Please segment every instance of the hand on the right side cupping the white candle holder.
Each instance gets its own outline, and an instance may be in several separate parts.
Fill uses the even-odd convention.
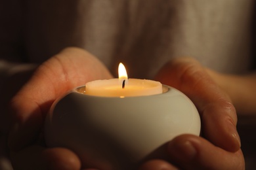
[[[150,160],[140,169],[245,169],[236,109],[205,68],[192,58],[173,59],[156,79],[185,93],[200,112],[202,137],[180,135],[169,142],[169,161]]]

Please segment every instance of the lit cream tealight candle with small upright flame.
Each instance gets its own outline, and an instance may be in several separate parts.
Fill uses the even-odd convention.
[[[85,94],[102,97],[131,97],[162,93],[160,82],[129,78],[122,63],[118,67],[119,78],[95,80],[85,84]]]

